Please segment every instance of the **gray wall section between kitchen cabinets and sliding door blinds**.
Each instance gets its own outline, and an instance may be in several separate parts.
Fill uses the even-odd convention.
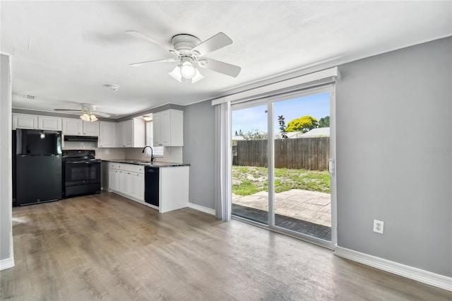
[[[184,163],[190,164],[189,201],[215,209],[215,108],[210,101],[185,107]]]

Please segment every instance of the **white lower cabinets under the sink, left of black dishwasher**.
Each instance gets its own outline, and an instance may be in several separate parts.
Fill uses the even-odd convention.
[[[144,203],[144,167],[141,165],[109,163],[109,191]]]

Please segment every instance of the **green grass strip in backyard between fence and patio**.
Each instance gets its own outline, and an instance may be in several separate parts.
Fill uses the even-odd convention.
[[[275,169],[275,192],[304,189],[330,193],[331,179],[327,171]],[[268,168],[232,166],[232,193],[248,196],[268,191]]]

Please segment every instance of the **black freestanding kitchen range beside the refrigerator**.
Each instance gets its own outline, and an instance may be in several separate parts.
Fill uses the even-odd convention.
[[[100,193],[100,162],[94,150],[64,150],[63,196]]]

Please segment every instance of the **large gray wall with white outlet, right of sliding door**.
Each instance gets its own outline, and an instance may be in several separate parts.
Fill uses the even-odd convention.
[[[340,73],[338,245],[452,276],[452,38]]]

